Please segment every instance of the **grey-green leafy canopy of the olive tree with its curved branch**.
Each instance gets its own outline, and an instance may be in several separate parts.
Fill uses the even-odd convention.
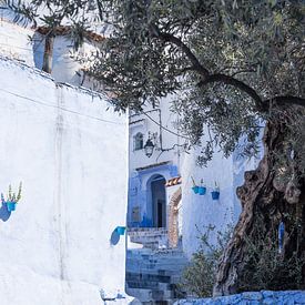
[[[118,110],[141,111],[176,94],[172,109],[189,142],[202,145],[203,165],[220,148],[231,154],[241,138],[242,153],[254,155],[276,96],[294,95],[305,104],[301,0],[99,3],[111,34],[91,75],[114,92]]]

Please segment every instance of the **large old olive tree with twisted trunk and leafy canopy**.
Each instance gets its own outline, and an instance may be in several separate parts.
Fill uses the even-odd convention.
[[[44,2],[65,1],[32,4]],[[214,150],[230,155],[241,138],[247,140],[244,153],[254,154],[264,128],[264,156],[236,190],[243,210],[214,294],[238,291],[246,241],[255,244],[258,233],[267,240],[279,222],[285,224],[282,260],[304,258],[304,1],[96,0],[91,6],[110,34],[88,59],[90,74],[111,92],[116,110],[141,111],[174,93],[173,109],[191,143],[202,145],[203,165]],[[70,20],[74,13],[78,9],[64,12]],[[212,136],[201,143],[204,132]]]

